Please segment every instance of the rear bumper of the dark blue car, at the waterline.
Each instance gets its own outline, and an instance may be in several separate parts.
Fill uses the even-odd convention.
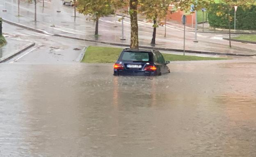
[[[117,70],[114,69],[114,75],[132,75],[132,76],[156,76],[157,71],[142,71],[142,70]]]

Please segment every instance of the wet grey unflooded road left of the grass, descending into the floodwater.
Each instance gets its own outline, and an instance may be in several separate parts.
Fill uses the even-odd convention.
[[[5,23],[3,24],[3,32],[5,32],[4,36],[7,39],[19,40],[21,43],[23,41],[36,42],[34,47],[10,60],[9,63],[11,64],[17,62],[24,64],[64,64],[79,62],[79,55],[85,47],[89,45],[108,46],[36,33]],[[16,51],[16,49],[12,50]]]

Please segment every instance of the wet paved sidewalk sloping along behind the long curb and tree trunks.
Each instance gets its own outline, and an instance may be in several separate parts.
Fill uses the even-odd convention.
[[[47,9],[47,8],[46,8]],[[64,8],[66,9],[66,8]],[[78,38],[79,40],[91,40],[95,42],[106,42],[112,45],[129,46],[130,44],[130,26],[129,19],[126,18],[125,26],[125,38],[126,40],[120,40],[121,37],[121,22],[117,22],[118,27],[113,27],[114,22],[112,17],[101,18],[99,22],[99,36],[94,36],[95,23],[85,20],[85,17],[79,14],[78,18],[71,17],[70,14],[65,13],[62,9],[61,14],[50,16],[49,12],[39,13],[37,19],[38,22],[33,22],[30,17],[24,15],[23,17],[16,17],[11,13],[0,13],[3,19],[11,22],[22,24],[24,27],[37,29],[39,33],[50,33],[56,36],[68,36],[71,38]],[[54,22],[53,22],[54,19]],[[53,27],[54,23],[54,27]],[[139,45],[151,48],[152,38],[152,25],[151,23],[139,22]],[[167,37],[164,37],[164,27],[158,27],[156,37],[156,49],[170,49],[171,51],[183,51],[183,31],[179,26],[175,24],[169,24],[167,31]],[[27,28],[28,29],[28,28]],[[194,32],[186,33],[186,50],[190,52],[199,53],[216,53],[221,54],[229,53],[231,55],[256,55],[256,45],[243,44],[239,42],[232,42],[233,47],[229,48],[229,42],[226,40],[220,40],[222,38],[215,38],[215,34],[198,33],[198,43],[194,41]]]

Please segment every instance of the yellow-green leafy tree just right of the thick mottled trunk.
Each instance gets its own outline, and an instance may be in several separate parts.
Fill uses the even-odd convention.
[[[140,11],[147,20],[153,20],[153,37],[151,44],[155,45],[156,28],[161,20],[165,19],[171,0],[141,0]]]

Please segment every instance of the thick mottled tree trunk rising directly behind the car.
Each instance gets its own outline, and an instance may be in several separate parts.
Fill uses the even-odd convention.
[[[138,5],[138,0],[130,0],[129,13],[130,13],[130,23],[131,23],[131,38],[130,38],[131,49],[139,49],[137,5]]]

